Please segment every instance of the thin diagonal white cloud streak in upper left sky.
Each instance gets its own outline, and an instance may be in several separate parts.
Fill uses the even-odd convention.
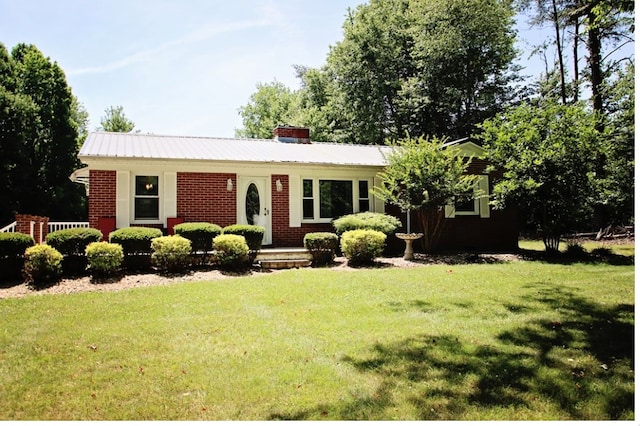
[[[118,69],[126,68],[128,66],[131,66],[137,63],[147,61],[162,52],[169,51],[178,46],[206,41],[220,34],[225,34],[225,33],[230,33],[235,31],[242,31],[242,30],[253,29],[253,28],[266,27],[272,24],[273,24],[272,22],[269,22],[268,20],[264,20],[264,19],[241,21],[241,22],[234,22],[234,23],[228,23],[228,24],[215,23],[205,28],[201,28],[197,31],[194,31],[190,34],[187,34],[185,37],[179,38],[177,40],[172,40],[170,42],[167,42],[153,49],[146,49],[146,50],[136,52],[122,59],[111,62],[109,64],[99,65],[95,67],[71,69],[67,71],[67,75],[86,75],[86,74],[107,73],[107,72],[115,71]]]

